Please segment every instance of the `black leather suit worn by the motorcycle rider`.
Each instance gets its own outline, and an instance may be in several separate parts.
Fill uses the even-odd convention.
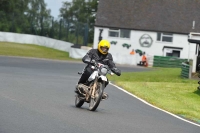
[[[103,61],[104,59],[108,59],[108,60],[105,62],[105,61]],[[83,72],[81,78],[79,79],[78,84],[86,83],[87,79],[92,74],[93,70],[91,69],[91,64],[90,64],[91,60],[95,60],[97,63],[108,65],[113,73],[115,73],[117,76],[121,75],[121,71],[116,68],[116,66],[113,62],[112,55],[110,53],[104,55],[104,54],[101,54],[98,49],[91,49],[82,58],[82,61],[88,65],[85,67],[84,72]]]

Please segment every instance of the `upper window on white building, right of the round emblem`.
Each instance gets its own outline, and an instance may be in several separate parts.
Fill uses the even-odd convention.
[[[173,42],[173,34],[170,33],[157,33],[157,41],[160,42]]]

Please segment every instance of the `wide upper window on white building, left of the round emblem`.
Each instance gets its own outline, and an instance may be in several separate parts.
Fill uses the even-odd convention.
[[[109,29],[110,37],[130,38],[130,30],[124,29]]]

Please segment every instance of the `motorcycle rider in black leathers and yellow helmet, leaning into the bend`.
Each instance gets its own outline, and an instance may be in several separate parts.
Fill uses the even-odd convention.
[[[110,42],[108,42],[107,40],[101,40],[98,44],[97,49],[91,49],[82,58],[82,61],[88,65],[85,67],[83,74],[81,75],[81,78],[78,81],[78,85],[86,83],[87,79],[93,73],[91,65],[95,63],[108,65],[108,67],[113,73],[115,73],[117,76],[121,75],[121,71],[115,66],[115,63],[113,62],[112,55],[108,53],[109,48],[110,48]],[[76,90],[75,90],[76,93],[78,93],[78,90],[77,90],[78,85],[76,86]],[[105,99],[105,98],[107,98],[106,93],[104,93],[102,96],[102,99]]]

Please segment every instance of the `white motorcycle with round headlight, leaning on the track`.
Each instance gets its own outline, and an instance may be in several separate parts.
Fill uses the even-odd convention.
[[[88,78],[87,83],[78,85],[79,94],[75,96],[75,106],[80,108],[84,102],[87,102],[89,103],[89,110],[95,111],[102,101],[104,89],[108,84],[106,75],[108,73],[111,75],[114,74],[110,71],[107,65],[101,63],[95,63],[91,68],[94,71]],[[107,94],[105,93],[105,95]]]

